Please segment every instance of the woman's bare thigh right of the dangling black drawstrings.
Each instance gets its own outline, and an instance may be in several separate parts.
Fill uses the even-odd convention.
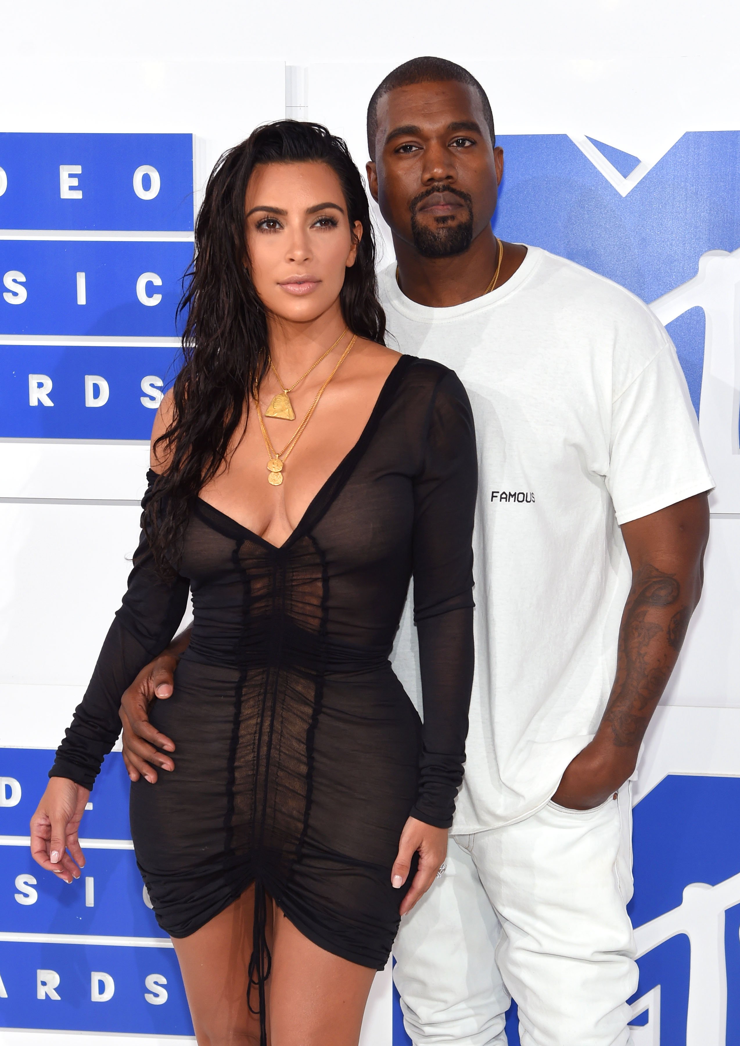
[[[374,976],[319,948],[276,908],[270,1046],[357,1046]]]

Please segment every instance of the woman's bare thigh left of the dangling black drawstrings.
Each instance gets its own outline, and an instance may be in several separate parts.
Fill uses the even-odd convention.
[[[270,913],[272,902],[268,901],[268,906]],[[248,1004],[253,915],[251,886],[200,930],[188,937],[172,938],[199,1046],[259,1046],[259,1016]],[[267,938],[271,947],[270,917]],[[249,1001],[258,1009],[255,987]]]

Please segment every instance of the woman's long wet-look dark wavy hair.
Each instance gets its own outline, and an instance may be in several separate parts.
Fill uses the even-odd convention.
[[[208,179],[195,222],[195,251],[179,314],[186,315],[183,367],[172,388],[172,418],[156,441],[169,458],[157,478],[142,525],[159,572],[177,568],[190,506],[222,467],[270,366],[265,310],[245,266],[245,197],[257,164],[326,163],[342,185],[350,227],[362,222],[354,265],[340,292],[349,329],[384,342],[375,240],[360,172],[345,142],[320,123],[276,120],[224,153]]]

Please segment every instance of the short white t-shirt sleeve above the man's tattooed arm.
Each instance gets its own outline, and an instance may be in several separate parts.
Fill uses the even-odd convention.
[[[665,332],[652,359],[616,390],[606,487],[617,522],[649,516],[714,486],[675,348]]]

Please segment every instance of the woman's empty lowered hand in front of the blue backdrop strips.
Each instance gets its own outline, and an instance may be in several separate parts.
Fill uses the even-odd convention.
[[[51,777],[31,817],[31,857],[65,883],[79,879],[85,856],[77,829],[90,792],[68,777]],[[67,852],[69,850],[69,852]]]

